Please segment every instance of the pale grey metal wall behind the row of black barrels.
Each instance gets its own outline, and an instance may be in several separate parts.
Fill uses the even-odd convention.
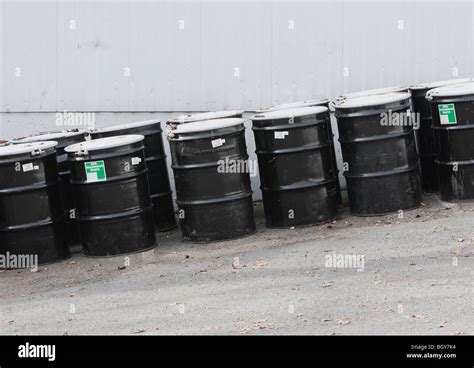
[[[467,0],[1,0],[0,22],[3,138],[54,129],[56,111],[105,126],[474,70]]]

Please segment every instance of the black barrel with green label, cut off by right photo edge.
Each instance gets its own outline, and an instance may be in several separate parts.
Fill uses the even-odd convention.
[[[439,192],[444,201],[474,198],[474,83],[428,91]]]

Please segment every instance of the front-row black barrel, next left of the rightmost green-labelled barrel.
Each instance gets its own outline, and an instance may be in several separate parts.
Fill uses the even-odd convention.
[[[409,93],[335,102],[350,211],[382,215],[418,207],[421,188]]]

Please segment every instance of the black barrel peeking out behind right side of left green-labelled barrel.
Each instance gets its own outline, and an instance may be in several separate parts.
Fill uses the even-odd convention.
[[[168,231],[174,229],[176,219],[163,146],[161,121],[147,120],[97,129],[91,132],[91,137],[92,139],[98,139],[127,134],[139,134],[145,137],[145,157],[156,230]]]

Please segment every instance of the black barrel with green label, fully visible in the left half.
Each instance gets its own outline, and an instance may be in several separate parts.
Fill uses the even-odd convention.
[[[84,253],[111,256],[155,246],[142,135],[66,147]]]

